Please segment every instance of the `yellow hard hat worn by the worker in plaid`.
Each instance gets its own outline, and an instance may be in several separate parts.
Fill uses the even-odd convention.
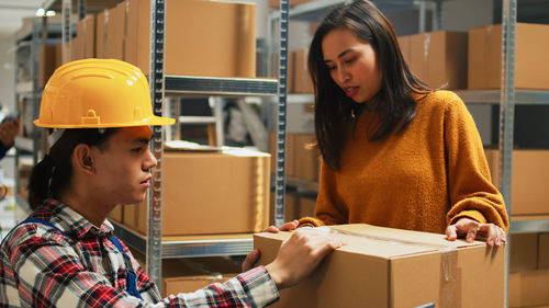
[[[155,116],[148,82],[133,65],[113,59],[65,64],[49,78],[34,125],[51,128],[108,128],[171,125]]]

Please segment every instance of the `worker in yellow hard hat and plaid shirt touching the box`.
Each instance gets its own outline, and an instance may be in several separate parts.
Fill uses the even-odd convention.
[[[35,124],[66,129],[33,169],[34,213],[1,244],[1,307],[264,307],[341,244],[296,232],[272,263],[249,270],[254,251],[246,273],[163,299],[105,220],[119,204],[145,198],[157,163],[149,125],[173,124],[153,115],[141,70],[103,59],[61,66]]]

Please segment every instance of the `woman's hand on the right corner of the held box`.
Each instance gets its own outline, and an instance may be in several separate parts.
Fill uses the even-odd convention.
[[[463,217],[456,224],[446,228],[446,238],[453,241],[457,238],[466,238],[468,242],[484,240],[490,247],[500,247],[507,241],[505,231],[494,224],[480,224],[471,218]]]

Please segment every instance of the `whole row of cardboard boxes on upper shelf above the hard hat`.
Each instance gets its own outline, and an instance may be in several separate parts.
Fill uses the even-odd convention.
[[[170,0],[166,7],[166,75],[256,77],[255,4]],[[61,44],[44,47],[40,62],[47,67],[41,75],[42,87],[61,64],[52,60],[52,55],[60,55],[61,48]],[[120,59],[148,75],[149,49],[150,1],[125,0],[78,22],[69,59]]]

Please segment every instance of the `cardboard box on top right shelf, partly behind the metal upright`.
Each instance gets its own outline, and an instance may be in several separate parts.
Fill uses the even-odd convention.
[[[549,89],[549,25],[516,24],[515,88]],[[502,25],[469,31],[469,89],[500,89]]]

